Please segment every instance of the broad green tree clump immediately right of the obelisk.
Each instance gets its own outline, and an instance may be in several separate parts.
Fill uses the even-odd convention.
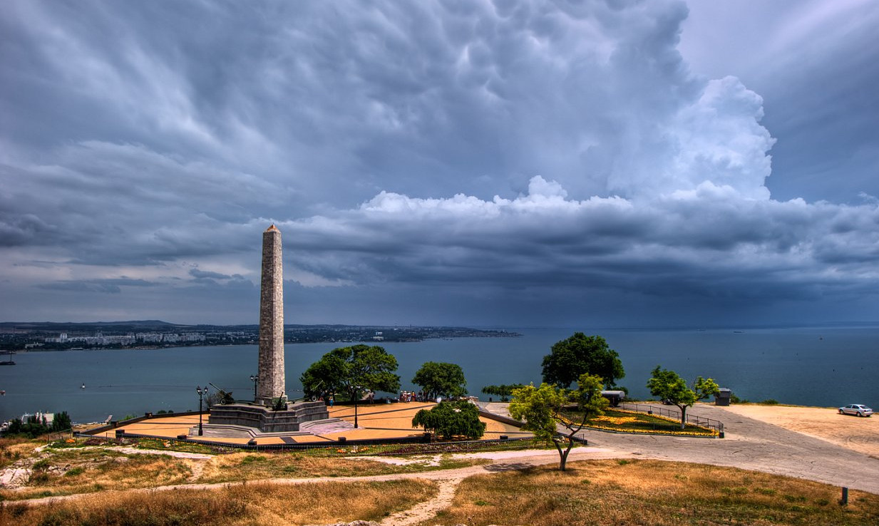
[[[299,379],[306,396],[326,391],[350,398],[355,387],[396,393],[400,388],[396,367],[396,357],[385,349],[359,344],[332,349],[309,365]]]

